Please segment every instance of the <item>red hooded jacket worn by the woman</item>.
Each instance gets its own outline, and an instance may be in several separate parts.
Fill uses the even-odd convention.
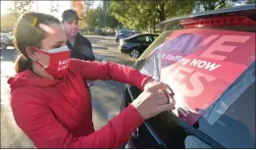
[[[83,78],[113,79],[143,88],[149,77],[114,63],[71,60],[63,81],[26,70],[10,77],[15,121],[37,148],[120,148],[143,123],[130,105],[108,125],[95,131],[92,106]]]

